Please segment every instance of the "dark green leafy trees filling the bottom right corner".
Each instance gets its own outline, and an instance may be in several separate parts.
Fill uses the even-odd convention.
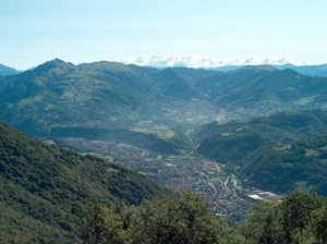
[[[326,213],[326,198],[293,192],[281,204],[254,205],[241,233],[256,244],[323,244],[327,242]]]

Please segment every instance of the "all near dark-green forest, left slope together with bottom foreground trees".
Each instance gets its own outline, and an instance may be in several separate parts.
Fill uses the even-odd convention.
[[[235,227],[192,192],[173,194],[120,164],[59,149],[2,122],[0,139],[1,243],[327,241],[327,199],[316,194],[258,202]]]

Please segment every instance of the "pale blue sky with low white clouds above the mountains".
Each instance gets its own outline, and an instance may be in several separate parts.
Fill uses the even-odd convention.
[[[0,63],[327,63],[326,0],[0,0]]]

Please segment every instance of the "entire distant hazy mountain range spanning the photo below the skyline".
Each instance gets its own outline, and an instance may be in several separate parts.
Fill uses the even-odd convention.
[[[0,120],[35,136],[52,136],[58,127],[131,127],[154,118],[187,123],[186,107],[247,117],[326,108],[326,91],[327,77],[268,65],[217,72],[56,59],[0,77]]]

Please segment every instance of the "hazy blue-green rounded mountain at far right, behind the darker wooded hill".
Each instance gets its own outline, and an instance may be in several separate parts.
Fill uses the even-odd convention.
[[[327,78],[276,70],[268,65],[245,66],[219,73],[195,84],[218,107],[263,113],[327,105]],[[257,114],[254,114],[257,115]]]

